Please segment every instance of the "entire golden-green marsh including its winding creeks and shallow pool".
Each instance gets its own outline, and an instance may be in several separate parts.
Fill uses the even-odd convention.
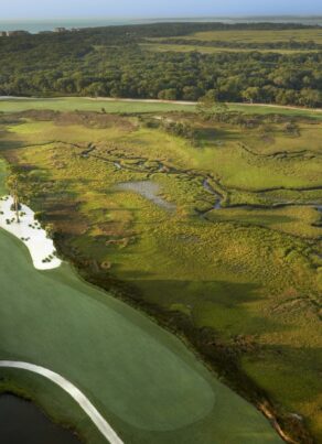
[[[286,113],[10,113],[0,153],[87,279],[183,333],[253,402],[266,393],[287,433],[319,441],[322,123]]]

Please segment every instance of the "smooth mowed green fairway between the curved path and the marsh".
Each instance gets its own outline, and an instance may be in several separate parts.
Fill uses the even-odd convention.
[[[253,405],[144,315],[67,264],[36,271],[3,230],[0,251],[0,359],[67,378],[126,443],[281,442]]]

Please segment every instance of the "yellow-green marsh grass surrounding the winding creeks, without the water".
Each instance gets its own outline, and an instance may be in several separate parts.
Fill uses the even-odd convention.
[[[141,124],[128,130],[26,121],[8,128],[1,149],[9,160],[12,155],[36,172],[29,177],[34,208],[66,234],[71,250],[95,260],[99,269],[108,263],[109,272],[148,304],[184,316],[193,328],[211,328],[224,350],[242,350],[244,371],[282,412],[302,414],[319,440],[319,213],[297,206],[225,208],[201,216],[195,208],[214,204],[202,174],[213,174],[225,197],[244,204],[258,203],[267,184],[320,186],[320,123],[300,122],[299,138],[273,126],[267,141],[259,129],[207,127],[194,120],[201,138],[196,147]],[[73,147],[75,141],[83,148]],[[89,142],[99,158],[79,155]],[[315,159],[293,159],[301,145]],[[287,159],[270,158],[281,149]],[[119,170],[116,160],[137,170]],[[149,173],[148,165],[157,160],[176,173]],[[176,205],[175,212],[116,188],[120,182],[148,177]],[[285,199],[286,192],[288,199],[300,198],[292,189],[275,189],[273,197]],[[321,202],[319,189],[314,193]],[[60,218],[60,208],[72,203],[77,207]]]

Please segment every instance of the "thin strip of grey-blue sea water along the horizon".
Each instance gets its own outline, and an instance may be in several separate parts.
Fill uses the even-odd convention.
[[[24,30],[31,33],[52,31],[54,28],[96,28],[122,24],[143,24],[155,22],[297,22],[303,24],[322,25],[322,17],[202,17],[202,18],[159,18],[159,19],[56,19],[56,20],[0,20],[0,31]]]

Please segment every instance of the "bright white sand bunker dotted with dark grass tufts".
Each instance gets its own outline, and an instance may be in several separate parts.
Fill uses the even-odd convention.
[[[26,205],[19,210],[20,223],[17,221],[15,212],[11,209],[13,198],[4,196],[0,199],[0,227],[18,237],[29,249],[34,268],[51,270],[61,266],[52,239],[34,218],[34,213]]]

